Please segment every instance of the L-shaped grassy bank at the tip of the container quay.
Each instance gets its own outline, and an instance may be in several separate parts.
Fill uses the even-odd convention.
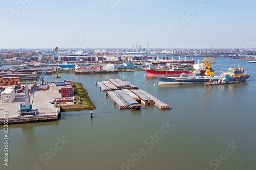
[[[83,88],[81,83],[72,82],[75,92],[76,104],[74,105],[62,105],[61,111],[81,111],[81,110],[94,110],[95,105],[88,96],[86,89]],[[80,102],[79,102],[80,98]]]

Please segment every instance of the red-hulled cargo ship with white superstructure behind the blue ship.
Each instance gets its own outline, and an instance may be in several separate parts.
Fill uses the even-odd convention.
[[[204,75],[206,68],[202,64],[199,64],[199,60],[197,64],[194,65],[178,65],[176,67],[168,68],[145,68],[146,74],[144,76],[179,76],[182,73],[186,75],[193,75],[195,71],[199,71],[200,75]]]

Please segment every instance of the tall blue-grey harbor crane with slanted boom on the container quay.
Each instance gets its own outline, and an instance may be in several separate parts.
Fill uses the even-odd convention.
[[[50,60],[48,61],[44,71],[42,71],[42,74],[41,76],[39,77],[39,79],[37,80],[34,88],[31,90],[30,92],[30,95],[29,95],[29,87],[28,87],[28,83],[29,81],[26,81],[26,86],[25,86],[25,103],[20,103],[19,104],[19,111],[18,111],[18,114],[20,116],[23,116],[23,115],[35,115],[37,113],[37,110],[38,109],[32,109],[32,105],[33,105],[33,100],[34,100],[34,95],[35,95],[35,92],[37,90],[37,88],[40,86],[40,83],[42,82],[42,80],[44,79],[45,77],[45,74],[50,66],[50,64],[52,63],[55,55],[57,54],[58,52],[58,47],[55,48],[55,50],[53,51],[52,53],[52,56],[50,58]],[[31,96],[33,96],[33,99],[32,99],[32,103],[30,104],[30,98]]]

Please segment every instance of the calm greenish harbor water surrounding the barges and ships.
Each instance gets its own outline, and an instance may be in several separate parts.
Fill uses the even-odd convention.
[[[241,60],[220,58],[214,67],[220,72],[238,63],[256,77],[256,64]],[[255,80],[154,86],[158,80],[144,74],[61,74],[83,84],[97,107],[94,118],[90,111],[63,112],[58,122],[10,125],[8,167],[1,126],[0,169],[256,169]],[[45,81],[54,81],[54,76]],[[119,110],[95,86],[109,78],[139,86],[172,110]],[[168,123],[171,126],[164,126]],[[62,138],[66,143],[59,142]],[[232,150],[227,143],[238,147]],[[220,156],[219,163],[211,161]]]

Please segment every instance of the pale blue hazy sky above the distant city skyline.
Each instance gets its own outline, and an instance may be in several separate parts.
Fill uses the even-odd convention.
[[[4,48],[256,48],[255,0],[0,0]]]

